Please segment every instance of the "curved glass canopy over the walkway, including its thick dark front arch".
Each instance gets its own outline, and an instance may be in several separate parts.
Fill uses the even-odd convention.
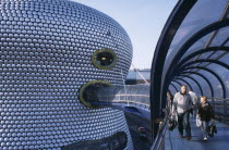
[[[181,0],[158,40],[152,65],[152,118],[166,92],[186,85],[197,96],[229,99],[229,0]]]

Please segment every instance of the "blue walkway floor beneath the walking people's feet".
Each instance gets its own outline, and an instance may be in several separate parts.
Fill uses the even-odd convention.
[[[179,138],[178,129],[166,133],[166,150],[229,150],[229,126],[217,122],[218,133],[203,141],[203,135],[200,127],[196,127],[195,121],[191,120],[192,139]],[[185,132],[184,132],[185,133]]]

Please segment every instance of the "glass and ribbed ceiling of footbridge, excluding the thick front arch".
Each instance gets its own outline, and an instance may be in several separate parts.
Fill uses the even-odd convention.
[[[196,1],[179,26],[162,72],[172,93],[186,85],[198,96],[229,98],[229,1]],[[191,86],[191,87],[190,87]]]

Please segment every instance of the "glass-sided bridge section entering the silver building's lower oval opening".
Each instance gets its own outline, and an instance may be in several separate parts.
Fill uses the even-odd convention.
[[[91,101],[97,105],[131,104],[150,110],[149,85],[125,85],[101,87],[96,90],[96,101]]]

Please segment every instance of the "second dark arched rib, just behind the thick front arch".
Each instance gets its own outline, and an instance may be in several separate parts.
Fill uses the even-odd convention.
[[[193,35],[177,52],[177,54],[174,55],[172,62],[170,63],[168,71],[166,73],[166,77],[164,79],[162,83],[162,91],[165,92],[165,90],[168,88],[169,83],[172,80],[172,78],[174,77],[174,72],[176,72],[176,67],[178,62],[180,61],[180,59],[182,58],[182,55],[189,50],[189,48],[191,46],[193,46],[198,39],[201,39],[202,37],[206,36],[207,34],[217,30],[219,28],[229,26],[229,18],[225,18],[222,21],[218,21],[215,22],[204,28],[202,28],[200,32],[197,32],[195,35]],[[166,98],[166,95],[162,93],[162,99]]]

